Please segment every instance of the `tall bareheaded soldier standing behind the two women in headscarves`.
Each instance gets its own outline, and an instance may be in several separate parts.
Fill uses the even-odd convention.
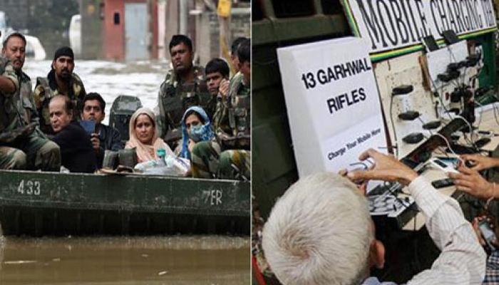
[[[170,41],[173,69],[168,71],[158,94],[159,137],[174,150],[182,142],[181,121],[185,110],[200,105],[210,118],[215,112],[217,98],[208,93],[205,71],[192,65],[192,42],[184,35],[175,35]]]

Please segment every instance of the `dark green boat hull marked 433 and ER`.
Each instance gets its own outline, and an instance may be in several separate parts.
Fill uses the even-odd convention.
[[[0,171],[6,235],[249,234],[249,182]]]

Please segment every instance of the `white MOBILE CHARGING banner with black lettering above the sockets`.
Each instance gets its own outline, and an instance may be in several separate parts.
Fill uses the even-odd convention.
[[[491,0],[344,0],[357,36],[369,40],[370,53],[418,45],[425,36],[442,38],[494,31]]]

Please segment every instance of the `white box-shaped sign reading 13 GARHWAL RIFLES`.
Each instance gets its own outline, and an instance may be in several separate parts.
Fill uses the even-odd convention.
[[[352,169],[369,147],[386,152],[369,43],[338,38],[277,56],[300,177]]]

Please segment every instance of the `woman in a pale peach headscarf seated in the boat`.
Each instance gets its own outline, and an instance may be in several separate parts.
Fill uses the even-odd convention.
[[[125,148],[136,147],[137,161],[145,162],[158,159],[156,152],[163,148],[167,155],[174,155],[173,151],[160,138],[154,120],[154,113],[149,108],[139,108],[133,113],[129,124],[130,139]]]

